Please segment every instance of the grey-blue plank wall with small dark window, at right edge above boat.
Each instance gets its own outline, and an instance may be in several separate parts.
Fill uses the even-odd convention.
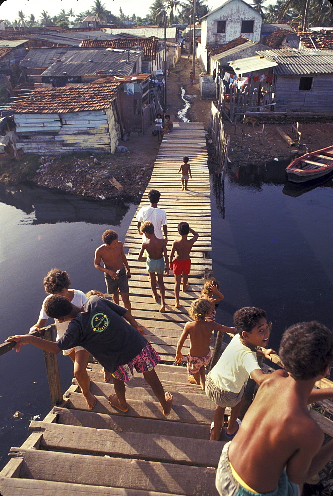
[[[301,77],[313,77],[311,90],[300,91]],[[276,76],[276,112],[333,112],[333,74]]]

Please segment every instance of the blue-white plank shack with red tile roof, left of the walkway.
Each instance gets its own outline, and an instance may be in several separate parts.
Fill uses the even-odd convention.
[[[39,88],[13,102],[17,148],[59,154],[114,153],[123,128],[117,106],[120,83]]]

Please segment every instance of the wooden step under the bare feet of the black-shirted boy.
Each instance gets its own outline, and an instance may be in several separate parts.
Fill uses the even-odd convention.
[[[87,403],[81,393],[68,392],[65,393],[68,399],[67,408],[76,410],[87,410]],[[174,405],[169,417],[165,417],[161,410],[160,403],[153,401],[139,401],[130,399],[128,401],[129,410],[126,414],[115,410],[108,403],[105,396],[96,396],[97,403],[93,408],[93,412],[111,413],[112,415],[125,415],[130,417],[141,417],[145,419],[172,420],[174,422],[185,422],[189,424],[206,424],[210,425],[213,419],[213,409],[207,410],[197,406]],[[166,427],[167,429],[167,427]]]

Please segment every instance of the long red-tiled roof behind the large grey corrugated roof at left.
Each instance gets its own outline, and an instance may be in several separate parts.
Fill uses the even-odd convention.
[[[156,57],[158,51],[158,40],[155,36],[151,38],[123,38],[116,40],[83,40],[81,47],[92,48],[131,48],[135,46],[142,47],[144,60],[152,61]]]

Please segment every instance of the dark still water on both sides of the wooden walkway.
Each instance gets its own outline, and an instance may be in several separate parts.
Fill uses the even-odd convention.
[[[237,167],[224,188],[212,176],[213,269],[225,300],[218,321],[255,305],[273,321],[270,344],[278,347],[292,323],[317,319],[332,326],[332,178],[286,188],[286,164]],[[287,194],[286,194],[287,193]],[[0,341],[22,334],[37,320],[51,267],[67,270],[72,287],[104,291],[93,266],[105,229],[124,239],[135,205],[95,202],[24,186],[0,188]],[[62,387],[72,378],[68,357],[58,355]],[[50,410],[41,350],[25,346],[0,357],[0,468],[11,446],[28,436],[36,415]],[[14,419],[16,411],[22,418]]]

